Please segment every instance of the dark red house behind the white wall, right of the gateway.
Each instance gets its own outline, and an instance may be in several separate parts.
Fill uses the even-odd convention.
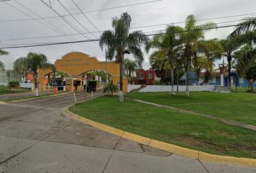
[[[155,71],[153,69],[144,70],[138,69],[136,73],[135,84],[151,85],[155,81]]]

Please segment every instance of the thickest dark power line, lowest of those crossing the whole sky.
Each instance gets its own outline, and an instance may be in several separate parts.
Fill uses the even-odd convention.
[[[226,28],[226,27],[236,27],[237,25],[224,25],[224,26],[219,26],[219,27],[208,27],[208,28],[201,28],[201,29],[195,29],[195,30],[184,30],[182,32],[193,32],[197,30],[213,30],[213,29],[219,29],[219,28]],[[176,33],[181,33],[181,32],[176,32]],[[166,34],[165,32],[163,33],[156,33],[156,34],[148,34],[146,36],[154,36],[154,35],[162,35]],[[120,38],[114,38],[120,39]],[[78,40],[78,41],[73,41],[73,42],[60,42],[60,43],[46,43],[46,44],[40,44],[40,45],[21,45],[21,46],[12,46],[12,47],[3,47],[0,49],[9,49],[9,48],[29,48],[29,47],[38,47],[38,46],[46,46],[46,45],[64,45],[64,44],[72,44],[72,43],[88,43],[88,42],[95,42],[95,41],[100,41],[100,39],[94,39],[94,40]]]

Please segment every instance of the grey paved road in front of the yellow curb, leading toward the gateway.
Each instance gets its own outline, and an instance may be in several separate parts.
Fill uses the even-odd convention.
[[[77,102],[84,100],[77,94]],[[73,94],[64,94],[0,105],[0,172],[256,172],[111,135],[65,116],[63,108],[72,104]]]

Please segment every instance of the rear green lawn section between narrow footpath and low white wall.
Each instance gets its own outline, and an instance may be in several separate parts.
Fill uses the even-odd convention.
[[[184,92],[175,96],[167,92],[151,92],[128,93],[126,96],[256,125],[256,94],[253,93],[190,92],[187,97]]]

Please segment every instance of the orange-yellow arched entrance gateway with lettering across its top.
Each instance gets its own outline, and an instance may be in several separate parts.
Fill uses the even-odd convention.
[[[107,71],[111,74],[113,83],[119,84],[119,74],[120,68],[119,64],[114,61],[98,61],[95,57],[90,57],[85,53],[80,52],[70,52],[64,55],[61,59],[55,61],[56,71],[63,71],[67,74],[72,75],[73,79],[80,79],[80,75],[87,71]],[[39,69],[38,71],[38,81],[41,90],[46,90],[46,85],[48,84],[47,74],[51,73],[50,68]],[[67,90],[72,90],[70,87],[73,86],[73,80],[67,84]],[[69,86],[68,86],[69,85]],[[82,85],[82,84],[81,84]],[[82,87],[82,86],[80,86]],[[127,92],[127,79],[124,78],[124,92]]]

